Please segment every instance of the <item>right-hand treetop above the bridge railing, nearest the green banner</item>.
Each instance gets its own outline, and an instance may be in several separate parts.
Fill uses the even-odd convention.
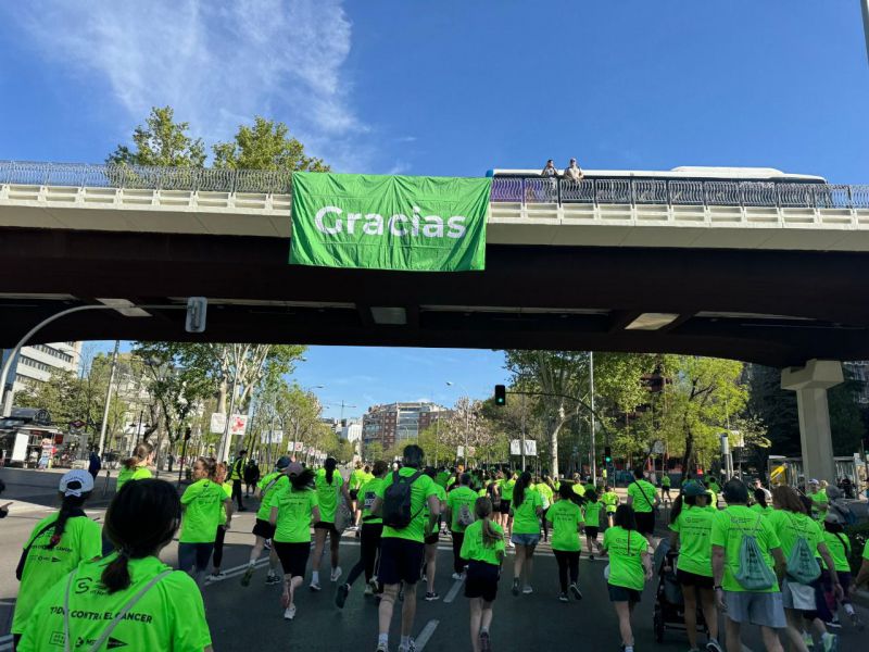
[[[214,166],[231,170],[290,170],[328,172],[322,159],[305,154],[304,146],[292,138],[281,122],[257,115],[253,126],[241,125],[229,142],[218,142]]]

